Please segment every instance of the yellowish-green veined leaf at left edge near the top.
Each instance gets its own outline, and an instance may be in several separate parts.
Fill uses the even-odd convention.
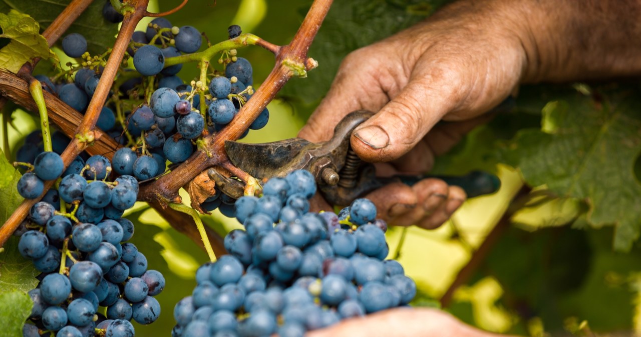
[[[11,41],[0,49],[0,65],[10,72],[18,72],[24,63],[34,58],[48,58],[49,45],[40,35],[38,22],[25,14],[11,10],[0,13],[0,38]]]

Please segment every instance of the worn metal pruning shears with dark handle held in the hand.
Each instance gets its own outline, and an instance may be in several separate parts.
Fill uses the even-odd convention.
[[[463,176],[377,177],[374,165],[363,162],[351,149],[349,140],[354,129],[373,115],[366,110],[347,114],[335,127],[329,141],[312,143],[302,138],[260,144],[226,141],[225,150],[232,164],[259,180],[284,177],[297,169],[310,171],[320,193],[333,205],[349,205],[354,199],[392,182],[413,185],[426,178],[438,178],[448,185],[460,186],[468,198],[491,194],[499,189],[499,178],[483,171],[472,171]],[[221,175],[214,169],[208,173],[222,192],[232,198],[242,196],[241,182]]]

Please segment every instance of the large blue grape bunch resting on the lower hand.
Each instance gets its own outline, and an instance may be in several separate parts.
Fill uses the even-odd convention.
[[[235,202],[245,230],[225,237],[229,255],[199,267],[192,295],[174,308],[172,336],[303,336],[413,299],[414,281],[385,260],[387,224],[374,204],[354,200],[339,216],[308,212],[315,192],[300,170]]]

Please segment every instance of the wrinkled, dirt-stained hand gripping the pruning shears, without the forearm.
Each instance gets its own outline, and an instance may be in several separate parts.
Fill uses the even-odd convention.
[[[454,4],[349,54],[299,136],[324,141],[345,114],[378,111],[354,130],[354,151],[379,163],[381,176],[429,171],[435,155],[487,120],[481,114],[520,81],[526,53],[510,27],[513,18],[490,7]],[[449,122],[437,124],[441,120]],[[412,187],[388,185],[367,198],[391,224],[435,228],[462,205],[465,192],[428,179]]]

